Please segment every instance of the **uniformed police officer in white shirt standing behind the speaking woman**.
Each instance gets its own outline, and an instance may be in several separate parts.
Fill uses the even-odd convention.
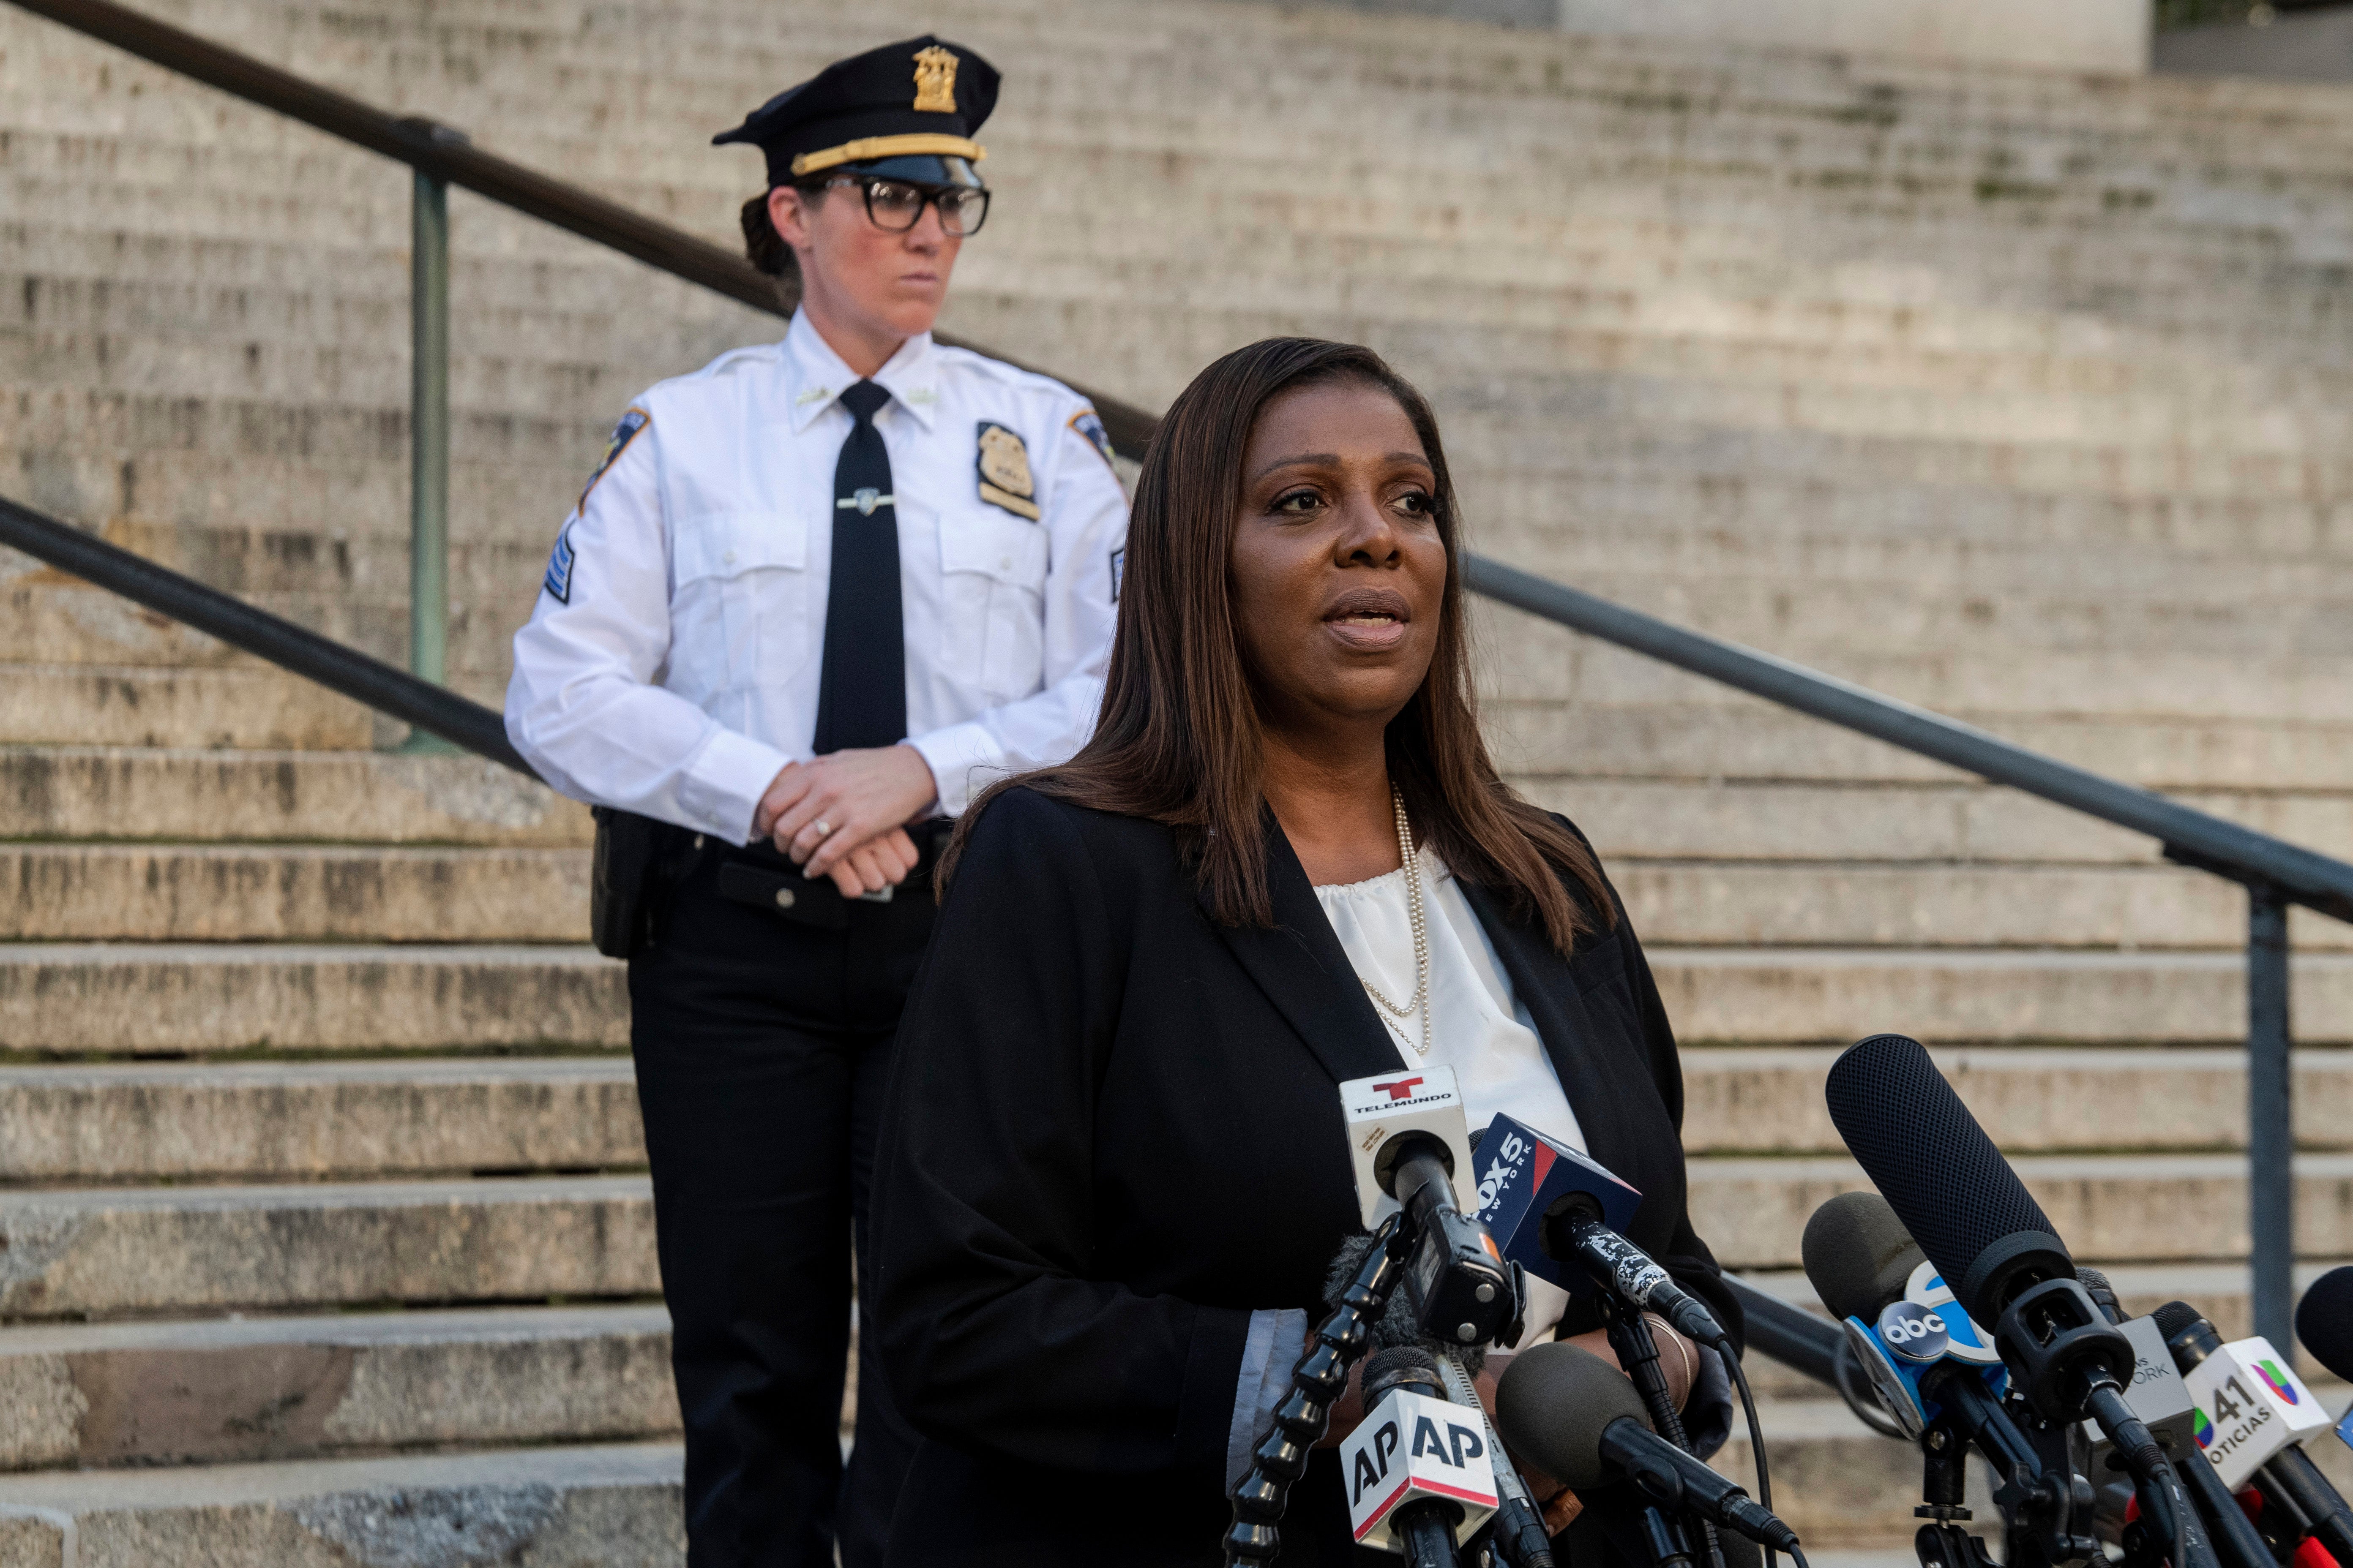
[[[847,1479],[835,1427],[929,870],[1101,696],[1101,421],[932,341],[995,96],[915,38],[718,136],[767,155],[744,230],[800,310],[628,407],[515,635],[506,729],[598,806],[598,945],[631,961],[694,1568],[882,1561],[915,1439],[866,1347]]]

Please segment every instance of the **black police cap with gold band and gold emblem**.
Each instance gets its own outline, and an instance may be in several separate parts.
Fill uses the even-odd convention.
[[[833,61],[711,146],[758,146],[767,153],[769,186],[835,172],[979,186],[972,165],[988,153],[972,134],[995,106],[998,68],[925,33]]]

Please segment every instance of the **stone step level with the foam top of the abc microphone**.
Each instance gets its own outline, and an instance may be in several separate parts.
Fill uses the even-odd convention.
[[[2019,1154],[2009,1161],[2082,1260],[2247,1255],[2240,1154]],[[1852,1159],[1694,1159],[1692,1225],[1727,1269],[1798,1267],[1812,1213],[1871,1182]],[[2297,1159],[2297,1253],[2353,1258],[2353,1157]]]

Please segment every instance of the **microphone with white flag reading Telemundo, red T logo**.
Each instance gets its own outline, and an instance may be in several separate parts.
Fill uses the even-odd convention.
[[[1355,1199],[1372,1229],[1402,1208],[1419,1229],[1405,1295],[1424,1333],[1447,1345],[1515,1338],[1518,1272],[1457,1194],[1471,1173],[1471,1133],[1452,1067],[1412,1067],[1339,1086]]]

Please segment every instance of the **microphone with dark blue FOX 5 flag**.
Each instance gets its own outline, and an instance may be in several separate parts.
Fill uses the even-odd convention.
[[[1619,1234],[1633,1222],[1640,1192],[1513,1117],[1487,1124],[1478,1147],[1489,1152],[1478,1215],[1504,1258],[1569,1295],[1600,1284],[1638,1312],[1657,1312],[1689,1340],[1732,1347],[1706,1302]]]

